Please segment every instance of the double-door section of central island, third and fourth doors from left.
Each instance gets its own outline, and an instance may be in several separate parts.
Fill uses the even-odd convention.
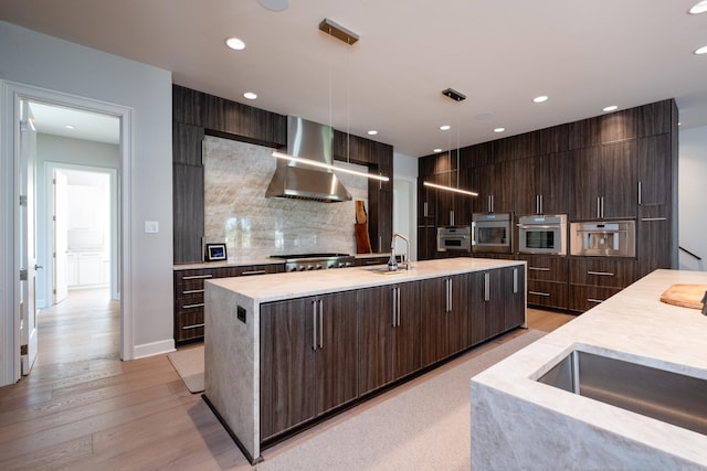
[[[411,281],[358,291],[359,395],[421,367],[420,285]]]

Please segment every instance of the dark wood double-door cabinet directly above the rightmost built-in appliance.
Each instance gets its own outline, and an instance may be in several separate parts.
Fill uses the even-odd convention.
[[[572,221],[636,217],[635,154],[635,140],[574,151]]]

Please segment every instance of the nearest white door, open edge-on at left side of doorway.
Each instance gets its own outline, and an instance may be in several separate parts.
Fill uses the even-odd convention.
[[[30,373],[38,351],[36,330],[36,235],[34,172],[36,131],[30,104],[20,101],[19,148],[19,259],[20,259],[20,364],[21,373]]]

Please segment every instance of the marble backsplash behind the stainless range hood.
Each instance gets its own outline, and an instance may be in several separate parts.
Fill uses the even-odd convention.
[[[337,173],[352,196],[345,203],[271,199],[265,190],[276,167],[273,149],[211,136],[202,146],[207,244],[225,243],[229,258],[356,253],[355,202],[365,201],[368,211],[366,178]]]

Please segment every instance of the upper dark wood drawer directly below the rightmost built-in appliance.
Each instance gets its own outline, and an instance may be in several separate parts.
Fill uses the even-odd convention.
[[[570,283],[625,288],[635,281],[636,260],[577,257],[570,260]]]

